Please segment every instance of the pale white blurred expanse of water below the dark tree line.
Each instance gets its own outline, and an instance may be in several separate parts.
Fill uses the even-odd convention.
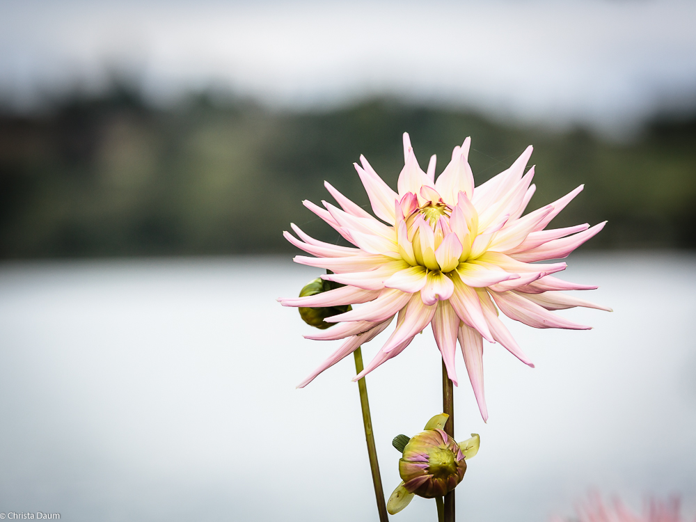
[[[596,489],[696,514],[696,257],[574,255],[567,279],[615,309],[561,312],[591,331],[507,321],[537,364],[485,348],[491,418],[461,354],[458,439],[482,443],[457,488],[477,522],[548,521]],[[0,268],[0,509],[67,521],[376,521],[349,357],[275,299],[317,269],[289,258],[36,263]],[[364,347],[369,360],[379,343]],[[386,495],[391,439],[441,411],[430,329],[367,378]],[[434,520],[416,498],[395,520]]]

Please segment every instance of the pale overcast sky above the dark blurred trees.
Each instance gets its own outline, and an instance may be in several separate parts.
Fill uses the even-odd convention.
[[[622,127],[696,99],[695,22],[676,0],[6,0],[0,93],[26,105],[121,70],[157,102],[209,85],[299,108],[388,94]]]

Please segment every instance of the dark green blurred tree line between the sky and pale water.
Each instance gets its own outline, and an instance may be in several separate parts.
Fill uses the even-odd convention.
[[[390,100],[292,113],[198,95],[155,109],[114,88],[0,116],[0,258],[292,251],[280,235],[291,221],[335,242],[301,200],[329,198],[329,180],[367,205],[361,154],[395,187],[404,131],[438,173],[472,136],[477,184],[533,144],[530,209],[585,183],[553,225],[609,220],[585,248],[696,246],[696,118],[656,118],[614,143]]]

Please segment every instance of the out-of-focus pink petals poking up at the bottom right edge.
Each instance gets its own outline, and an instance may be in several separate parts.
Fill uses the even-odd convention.
[[[611,507],[603,503],[599,495],[592,495],[590,500],[578,507],[577,522],[685,522],[679,514],[679,499],[668,502],[650,500],[641,515],[631,512],[621,500],[616,499]],[[554,519],[553,522],[564,522]]]

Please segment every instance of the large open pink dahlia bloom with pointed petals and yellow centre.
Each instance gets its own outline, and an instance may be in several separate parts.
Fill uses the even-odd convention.
[[[342,287],[313,296],[279,299],[284,306],[331,307],[365,303],[326,318],[338,326],[306,335],[308,339],[345,339],[341,347],[300,383],[306,386],[326,368],[385,330],[397,316],[396,328],[365,370],[354,380],[400,354],[416,334],[431,325],[448,375],[457,384],[454,353],[457,340],[481,415],[487,420],[483,383],[483,340],[499,342],[523,363],[532,362],[498,317],[498,308],[511,319],[535,328],[590,329],[559,317],[551,310],[585,306],[610,310],[558,290],[596,287],[566,283],[551,274],[566,264],[537,261],[565,258],[599,232],[578,225],[544,230],[580,192],[523,216],[535,186],[534,167],[525,173],[532,147],[506,171],[474,188],[468,164],[470,139],[452,152],[452,161],[435,180],[435,157],[423,172],[404,134],[405,165],[393,191],[361,156],[355,164],[374,216],[325,182],[339,207],[303,204],[335,228],[354,247],[317,241],[294,224],[300,238],[283,232],[303,251],[295,262],[329,269],[322,278]],[[497,306],[497,308],[496,308]]]

